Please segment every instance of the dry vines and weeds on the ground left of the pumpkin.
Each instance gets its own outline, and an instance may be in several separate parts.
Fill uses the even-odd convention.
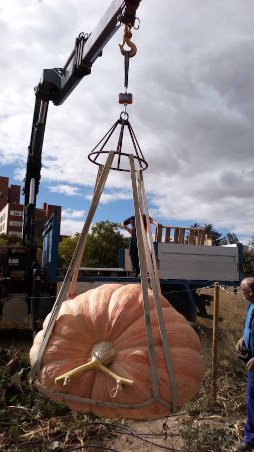
[[[86,441],[112,436],[106,419],[71,411],[30,385],[26,353],[0,349],[0,449],[58,452]],[[94,422],[100,420],[101,425]],[[87,442],[86,442],[87,443]],[[68,448],[69,448],[68,447]]]

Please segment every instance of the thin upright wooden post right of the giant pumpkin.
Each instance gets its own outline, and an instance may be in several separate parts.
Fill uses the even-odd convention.
[[[217,396],[217,349],[218,349],[218,313],[219,313],[219,283],[214,283],[213,294],[213,326],[212,326],[212,406],[216,405]]]

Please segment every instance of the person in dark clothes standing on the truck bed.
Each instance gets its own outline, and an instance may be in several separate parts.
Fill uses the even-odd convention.
[[[150,223],[155,224],[156,226],[161,226],[160,223],[155,221],[149,216]],[[146,224],[146,217],[143,214],[143,221],[145,226],[145,231],[147,231],[147,224]],[[128,224],[131,225],[130,228],[128,228]],[[130,252],[130,258],[131,258],[131,266],[132,271],[135,273],[135,277],[140,276],[140,270],[139,270],[139,260],[138,260],[138,245],[137,245],[137,235],[136,235],[136,225],[135,225],[135,216],[130,216],[126,220],[121,222],[121,227],[127,231],[131,237],[129,242],[129,252]]]

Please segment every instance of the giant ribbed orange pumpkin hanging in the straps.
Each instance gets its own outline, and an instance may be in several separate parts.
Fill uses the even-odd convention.
[[[171,402],[170,379],[151,290],[148,290],[148,297],[159,394],[163,400]],[[162,295],[160,303],[176,379],[176,405],[180,407],[198,392],[203,378],[200,342],[186,319]],[[43,324],[44,330],[49,318],[50,314]],[[35,337],[30,352],[32,365],[44,330]],[[96,362],[97,367],[93,367],[92,362]],[[86,363],[89,364],[83,366]],[[84,369],[66,376],[80,366]],[[105,368],[120,376],[123,384],[117,385],[110,372],[104,373]],[[39,381],[42,392],[46,387],[51,391],[118,404],[138,404],[151,399],[141,286],[104,284],[63,302],[44,352]],[[61,396],[50,397],[61,399]],[[73,410],[92,411],[97,416],[108,418],[158,418],[169,413],[169,408],[158,401],[131,409],[70,400],[66,403]]]

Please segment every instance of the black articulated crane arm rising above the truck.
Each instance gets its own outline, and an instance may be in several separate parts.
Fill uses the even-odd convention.
[[[35,87],[36,102],[25,185],[22,246],[35,247],[36,196],[41,178],[41,157],[49,101],[61,105],[85,75],[122,24],[134,25],[141,0],[113,0],[90,35],[81,33],[63,68],[44,69]]]

